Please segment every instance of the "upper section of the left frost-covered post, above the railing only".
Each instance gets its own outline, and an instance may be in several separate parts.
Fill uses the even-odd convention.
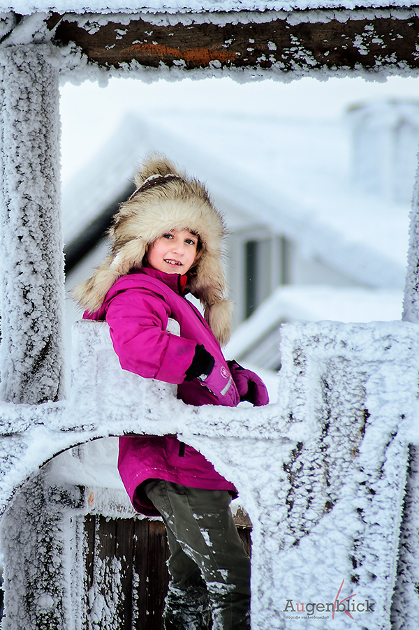
[[[51,48],[0,50],[1,397],[62,397],[59,80]]]

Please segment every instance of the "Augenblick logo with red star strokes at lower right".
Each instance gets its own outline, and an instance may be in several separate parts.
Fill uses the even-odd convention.
[[[328,619],[330,615],[317,616],[316,613],[332,613],[332,619],[335,619],[335,613],[345,613],[353,619],[351,613],[372,613],[374,612],[374,603],[369,599],[358,603],[353,599],[356,593],[348,595],[344,599],[339,599],[341,589],[344,585],[344,579],[339,587],[335,601],[330,602],[294,602],[293,599],[286,600],[284,613],[297,613],[297,615],[284,615],[284,619]],[[298,613],[303,613],[298,615]],[[305,613],[305,615],[304,615]]]

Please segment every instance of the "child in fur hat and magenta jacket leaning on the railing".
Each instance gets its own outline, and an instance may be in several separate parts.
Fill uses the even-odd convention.
[[[230,333],[224,226],[205,187],[165,156],[147,159],[135,183],[110,229],[110,256],[75,289],[84,318],[108,322],[124,369],[177,383],[187,404],[267,404],[260,378],[221,352]],[[180,337],[166,332],[169,317]],[[166,525],[165,628],[206,629],[212,619],[213,630],[248,629],[250,562],[230,512],[233,483],[175,435],[120,437],[118,469],[135,510]]]

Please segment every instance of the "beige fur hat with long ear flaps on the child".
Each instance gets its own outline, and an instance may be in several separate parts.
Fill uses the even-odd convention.
[[[186,177],[163,155],[150,156],[135,176],[137,189],[121,204],[109,230],[111,253],[94,275],[73,289],[80,306],[90,312],[101,307],[117,279],[142,266],[147,247],[170,230],[187,229],[202,249],[188,273],[192,295],[205,307],[205,319],[221,345],[230,337],[230,302],[224,299],[226,278],[221,245],[226,234],[223,218],[205,186]]]

